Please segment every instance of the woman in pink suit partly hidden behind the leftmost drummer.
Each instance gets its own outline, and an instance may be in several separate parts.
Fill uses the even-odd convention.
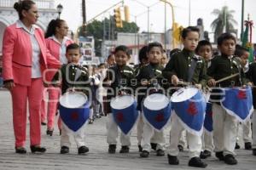
[[[67,37],[68,26],[65,20],[51,20],[45,33],[46,46],[49,49],[49,53],[52,54],[55,59],[61,62],[61,65],[67,64],[66,48],[69,44],[73,43],[73,40]],[[50,69],[45,72],[46,82],[51,82],[52,78],[58,70]],[[49,102],[42,100],[41,110],[41,122],[45,122],[47,116],[47,131],[46,134],[52,136],[54,130],[55,113],[57,111],[57,103],[60,95],[61,88],[54,86],[48,86],[44,88],[44,94],[49,93]],[[43,95],[46,96],[46,95]],[[45,110],[45,105],[48,103],[48,107]],[[60,119],[59,119],[60,120]],[[61,133],[61,121],[58,121],[58,127]]]

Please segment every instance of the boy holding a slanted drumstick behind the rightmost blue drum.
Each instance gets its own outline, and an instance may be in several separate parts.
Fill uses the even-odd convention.
[[[224,77],[239,73],[238,76],[232,77],[224,82],[216,84],[216,87],[241,87],[246,83],[244,74],[241,68],[241,61],[234,56],[236,50],[236,37],[230,33],[224,33],[218,37],[218,50],[220,55],[212,59],[211,65],[207,70],[207,74],[213,77],[214,80],[219,80]],[[209,85],[215,85],[215,81],[209,82]],[[236,129],[238,121],[235,116],[230,116],[224,107],[220,105],[222,96],[216,95],[219,93],[218,88],[212,90],[210,101],[212,100],[212,115],[213,115],[213,142],[215,145],[215,156],[219,161],[224,161],[229,165],[236,165],[235,146],[236,146]]]

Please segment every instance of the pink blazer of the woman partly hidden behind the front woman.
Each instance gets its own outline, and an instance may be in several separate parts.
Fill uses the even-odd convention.
[[[49,53],[52,54],[55,59],[58,59],[60,60],[60,48],[61,48],[61,45],[58,43],[58,42],[55,42],[55,40],[53,40],[52,38],[46,38],[45,39],[45,43],[46,43],[46,47],[49,49]],[[68,39],[66,41],[66,47],[73,43],[73,40],[71,39]],[[51,67],[49,67],[49,69],[52,69]],[[46,77],[46,80],[47,82],[51,82],[52,78],[55,76],[55,73],[57,72],[57,70],[55,71],[46,71],[45,72],[45,77]]]

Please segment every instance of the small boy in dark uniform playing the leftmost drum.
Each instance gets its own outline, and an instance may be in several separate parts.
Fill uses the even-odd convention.
[[[60,85],[61,92],[65,94],[68,91],[81,91],[84,94],[89,94],[90,82],[88,78],[87,69],[79,65],[81,57],[79,45],[72,43],[66,49],[67,65],[62,65],[60,71],[55,74],[53,82]],[[63,123],[63,122],[62,122]],[[84,154],[89,151],[84,142],[84,126],[78,132],[73,134],[75,142],[78,147],[78,153]],[[71,145],[70,137],[72,133],[68,133],[66,126],[62,125],[61,128],[61,154],[67,154]]]

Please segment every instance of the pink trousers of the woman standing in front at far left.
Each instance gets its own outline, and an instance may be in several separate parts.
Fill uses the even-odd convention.
[[[13,123],[15,130],[15,147],[26,143],[26,107],[28,101],[30,144],[41,144],[40,107],[42,101],[42,78],[32,79],[31,86],[15,84],[11,90],[13,101]]]

